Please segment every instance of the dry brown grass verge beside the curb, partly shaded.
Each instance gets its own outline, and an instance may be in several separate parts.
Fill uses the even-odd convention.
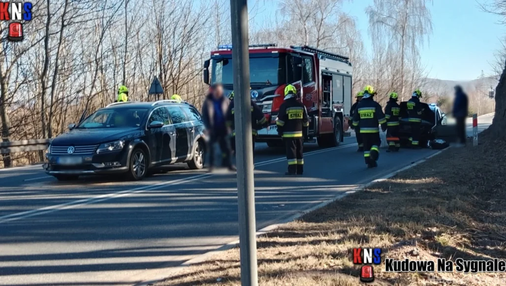
[[[506,259],[505,142],[452,148],[258,239],[260,285],[359,284],[352,248],[382,258]],[[506,273],[386,273],[375,284],[504,285]],[[238,249],[159,285],[240,285]]]

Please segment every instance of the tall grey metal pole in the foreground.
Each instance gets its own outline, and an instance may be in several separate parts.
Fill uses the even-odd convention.
[[[239,201],[239,247],[242,286],[257,286],[257,237],[251,102],[249,95],[248,9],[246,0],[230,0],[232,20],[232,62],[234,68],[234,110]]]

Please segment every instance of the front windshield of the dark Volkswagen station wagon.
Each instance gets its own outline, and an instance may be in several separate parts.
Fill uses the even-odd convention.
[[[141,126],[148,109],[142,108],[105,108],[101,109],[85,121],[82,121],[77,128],[128,128]]]

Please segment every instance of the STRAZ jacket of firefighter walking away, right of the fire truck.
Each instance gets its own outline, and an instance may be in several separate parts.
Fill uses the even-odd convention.
[[[381,106],[372,97],[362,99],[353,114],[353,126],[360,127],[360,133],[378,133],[378,125],[387,123]]]

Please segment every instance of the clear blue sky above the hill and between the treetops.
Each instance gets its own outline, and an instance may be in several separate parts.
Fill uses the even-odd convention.
[[[372,3],[373,0],[355,0],[343,7],[344,12],[358,19],[367,49],[370,39],[365,9]],[[252,4],[248,1],[249,6]],[[273,7],[268,1],[260,1],[260,5],[264,6],[261,11]],[[434,0],[430,9],[434,31],[430,42],[420,51],[429,77],[470,80],[480,76],[481,70],[491,75],[494,54],[500,49],[500,38],[506,32],[506,27],[497,24],[498,18],[482,12],[476,0]]]

